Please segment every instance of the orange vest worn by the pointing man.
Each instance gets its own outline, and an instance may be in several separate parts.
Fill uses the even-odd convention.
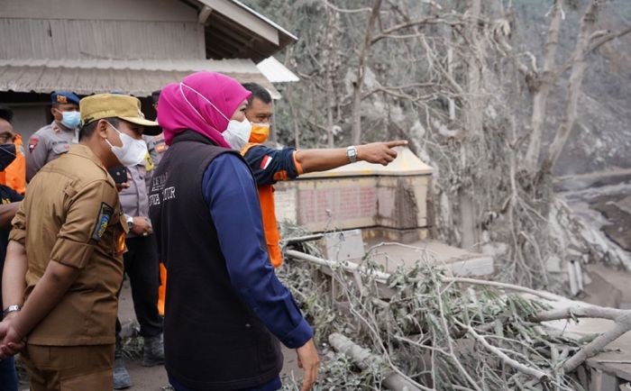
[[[252,147],[260,145],[256,142],[248,142],[241,150],[245,156]],[[276,223],[276,211],[274,207],[274,186],[257,186],[259,190],[259,204],[261,204],[261,215],[263,218],[263,231],[265,231],[265,241],[268,243],[270,262],[274,268],[278,268],[283,263],[283,255],[280,251],[280,233]]]

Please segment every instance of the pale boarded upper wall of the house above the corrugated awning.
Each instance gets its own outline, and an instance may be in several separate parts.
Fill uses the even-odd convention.
[[[0,59],[205,59],[204,26],[0,18]]]

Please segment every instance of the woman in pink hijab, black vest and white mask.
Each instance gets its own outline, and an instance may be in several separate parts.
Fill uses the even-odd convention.
[[[279,341],[315,383],[313,330],[271,266],[261,207],[241,150],[250,93],[200,72],[160,93],[169,150],[151,177],[150,215],[169,273],[165,368],[178,391],[281,387]]]

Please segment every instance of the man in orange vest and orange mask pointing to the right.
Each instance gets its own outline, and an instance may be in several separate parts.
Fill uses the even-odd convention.
[[[326,150],[295,150],[286,147],[274,150],[263,145],[270,134],[272,112],[270,93],[255,83],[243,86],[252,95],[245,116],[251,122],[250,142],[241,153],[250,165],[256,179],[263,216],[265,240],[270,252],[270,262],[275,268],[282,264],[280,252],[280,234],[274,211],[274,184],[279,180],[295,179],[307,172],[325,171],[346,164],[365,160],[387,166],[395,158],[397,151],[393,148],[406,145],[407,141],[373,142],[348,148]]]

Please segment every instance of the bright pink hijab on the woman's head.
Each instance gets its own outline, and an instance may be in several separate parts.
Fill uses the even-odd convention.
[[[158,101],[158,123],[164,131],[164,140],[170,145],[173,137],[190,129],[221,147],[231,148],[221,134],[228,127],[226,118],[231,118],[250,96],[251,92],[238,81],[215,72],[197,72],[184,77],[182,83],[165,86]]]

